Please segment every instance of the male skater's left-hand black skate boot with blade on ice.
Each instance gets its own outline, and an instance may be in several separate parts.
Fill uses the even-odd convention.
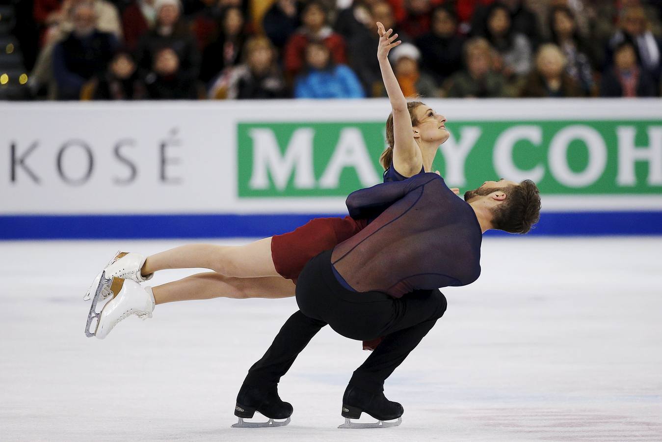
[[[255,412],[269,417],[267,422],[244,422],[250,419]],[[293,408],[289,402],[283,402],[278,396],[277,386],[256,387],[243,384],[237,394],[237,404],[234,407],[234,415],[239,417],[238,423],[232,427],[280,427],[290,422]],[[285,421],[274,421],[273,419],[287,419]]]

